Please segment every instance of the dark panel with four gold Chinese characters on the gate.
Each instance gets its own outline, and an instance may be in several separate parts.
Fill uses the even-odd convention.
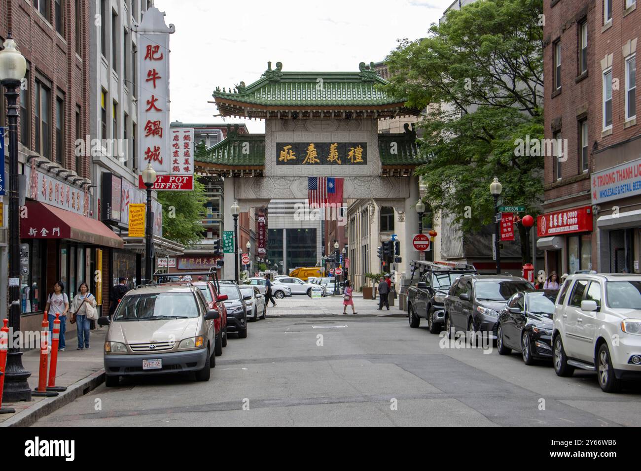
[[[276,165],[366,165],[365,142],[279,142]]]

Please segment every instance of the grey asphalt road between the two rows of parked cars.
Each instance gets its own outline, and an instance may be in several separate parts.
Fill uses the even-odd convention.
[[[233,337],[207,383],[103,384],[35,426],[641,426],[639,384],[606,394],[591,372],[444,349],[406,318],[268,317]]]

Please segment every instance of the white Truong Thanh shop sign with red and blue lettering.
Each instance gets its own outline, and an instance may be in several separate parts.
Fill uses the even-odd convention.
[[[641,195],[641,159],[592,174],[592,204]]]

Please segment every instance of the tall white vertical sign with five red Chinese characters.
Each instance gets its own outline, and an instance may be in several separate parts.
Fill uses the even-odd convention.
[[[171,172],[169,153],[169,35],[165,13],[151,7],[138,33],[138,169],[151,162],[159,175]],[[143,185],[144,188],[144,185]]]

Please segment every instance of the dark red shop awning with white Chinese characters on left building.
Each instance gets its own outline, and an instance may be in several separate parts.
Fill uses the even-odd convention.
[[[122,249],[122,239],[99,220],[38,201],[27,201],[25,206],[26,217],[20,219],[21,238],[69,239]]]

